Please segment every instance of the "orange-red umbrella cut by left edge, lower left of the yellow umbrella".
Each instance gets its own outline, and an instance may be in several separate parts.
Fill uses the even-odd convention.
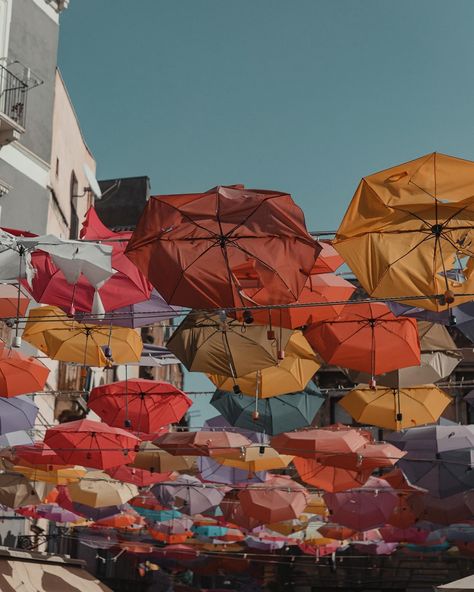
[[[49,368],[30,356],[7,347],[0,348],[0,397],[16,397],[42,391]]]

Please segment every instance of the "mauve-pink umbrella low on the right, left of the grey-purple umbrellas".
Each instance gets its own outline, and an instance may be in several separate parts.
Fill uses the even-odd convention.
[[[397,504],[397,494],[383,479],[370,477],[364,487],[343,493],[325,493],[331,519],[354,530],[386,524]]]

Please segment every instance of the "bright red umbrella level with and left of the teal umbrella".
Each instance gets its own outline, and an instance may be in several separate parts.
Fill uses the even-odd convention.
[[[167,382],[132,378],[93,388],[87,404],[111,426],[149,434],[178,422],[192,401]]]

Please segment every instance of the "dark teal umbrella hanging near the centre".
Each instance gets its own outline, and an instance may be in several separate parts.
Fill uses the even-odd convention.
[[[268,399],[216,390],[211,405],[233,426],[274,436],[311,425],[324,401],[310,382],[304,391]]]

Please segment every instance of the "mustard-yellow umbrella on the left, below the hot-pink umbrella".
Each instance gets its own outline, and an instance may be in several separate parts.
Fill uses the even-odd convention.
[[[107,348],[117,364],[138,362],[143,348],[140,336],[133,329],[78,323],[66,319],[64,312],[54,306],[30,311],[23,339],[53,360],[87,366],[106,366]]]

